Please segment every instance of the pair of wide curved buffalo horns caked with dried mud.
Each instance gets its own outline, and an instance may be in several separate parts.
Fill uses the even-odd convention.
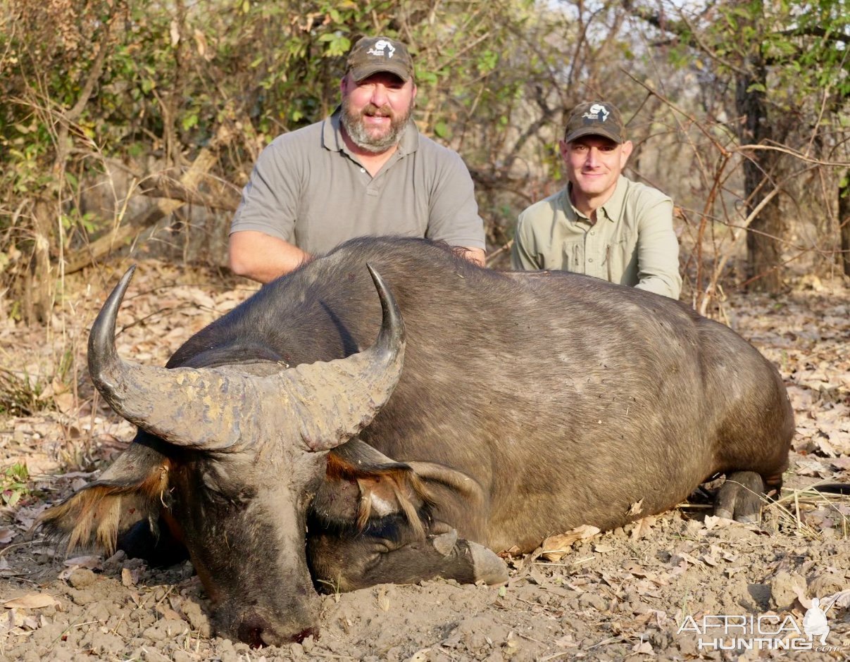
[[[404,359],[398,305],[367,265],[383,311],[371,348],[345,359],[298,365],[252,376],[238,366],[166,368],[122,360],[115,347],[116,315],[134,267],[127,270],[94,320],[88,370],[116,413],[170,444],[203,450],[241,450],[264,438],[297,436],[326,450],[368,425],[393,392]]]

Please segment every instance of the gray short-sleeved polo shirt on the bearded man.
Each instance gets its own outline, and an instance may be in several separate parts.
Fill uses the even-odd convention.
[[[230,232],[257,230],[321,254],[363,235],[484,248],[473,180],[456,152],[411,121],[373,178],[340,133],[340,110],[275,138],[242,190]]]

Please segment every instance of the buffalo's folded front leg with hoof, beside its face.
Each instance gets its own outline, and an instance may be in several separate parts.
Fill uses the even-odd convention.
[[[322,591],[415,584],[434,577],[462,584],[507,580],[507,566],[495,552],[459,539],[454,529],[400,545],[370,536],[349,540],[321,536],[309,542],[308,556]]]

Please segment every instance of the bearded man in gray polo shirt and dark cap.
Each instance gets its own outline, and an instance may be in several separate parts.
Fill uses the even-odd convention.
[[[456,152],[416,130],[405,44],[363,37],[348,54],[342,105],[260,154],[230,226],[236,274],[267,283],[363,235],[456,246],[484,264],[484,223]]]

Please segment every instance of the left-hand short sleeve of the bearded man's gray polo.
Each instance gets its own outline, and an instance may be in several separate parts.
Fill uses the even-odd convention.
[[[297,218],[297,164],[286,149],[284,136],[267,145],[242,189],[242,200],[230,223],[230,234],[256,230],[292,241]]]

